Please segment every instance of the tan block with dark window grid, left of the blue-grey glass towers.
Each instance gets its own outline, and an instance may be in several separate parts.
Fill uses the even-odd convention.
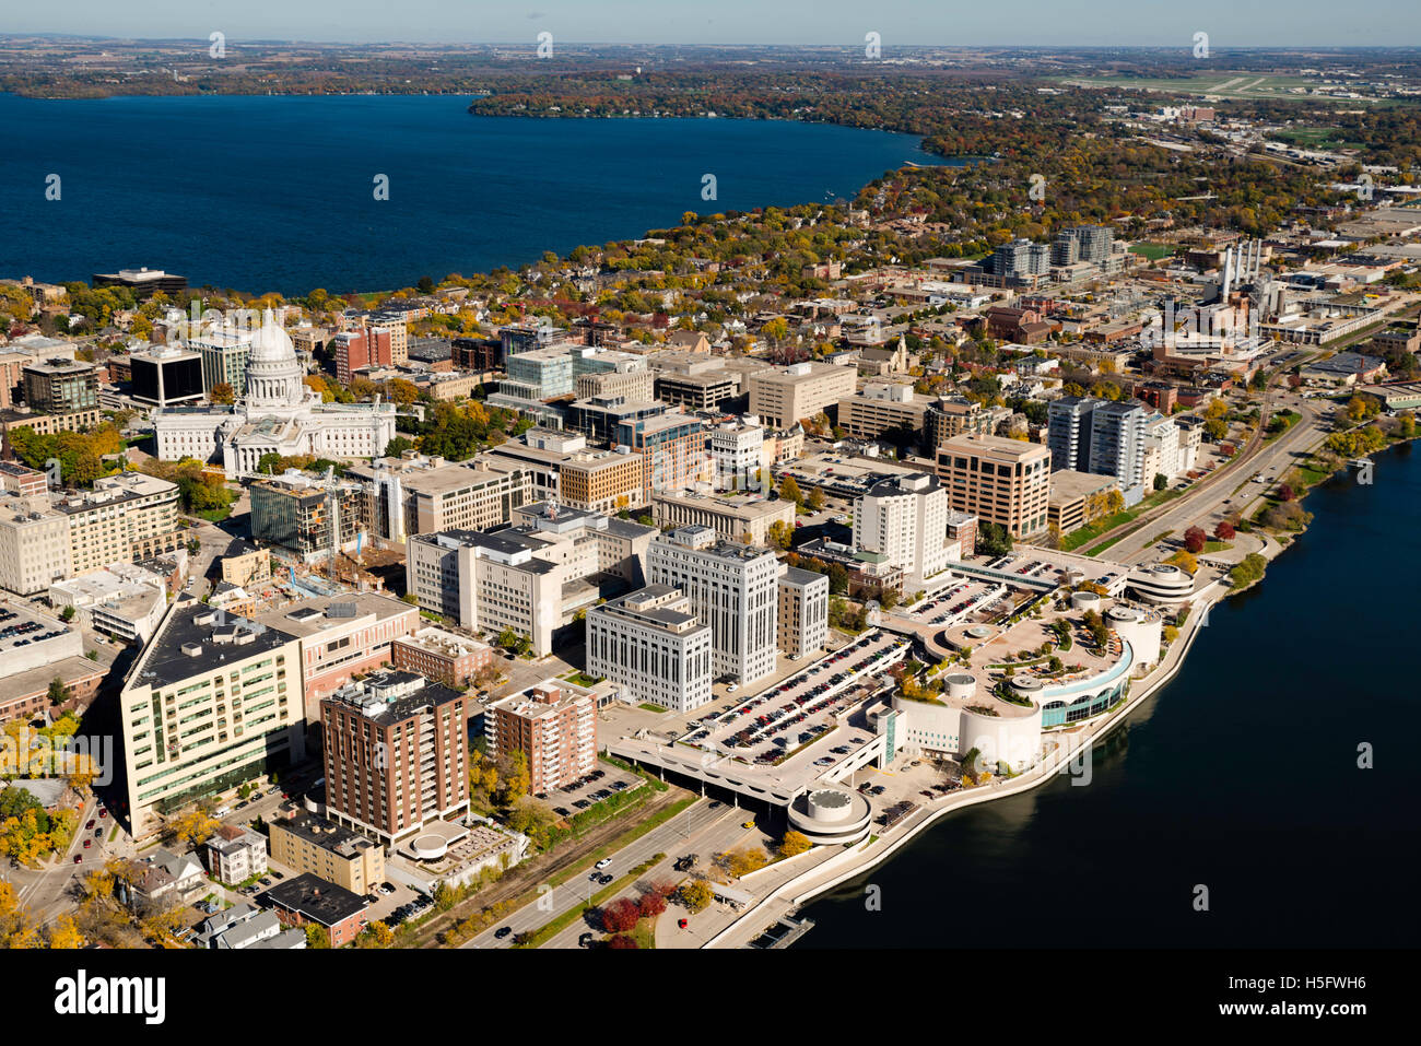
[[[953,436],[936,453],[936,472],[955,512],[1006,527],[1012,537],[1046,529],[1052,452],[1000,436]]]

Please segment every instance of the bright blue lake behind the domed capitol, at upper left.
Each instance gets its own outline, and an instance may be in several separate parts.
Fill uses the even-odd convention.
[[[942,162],[881,131],[472,117],[468,104],[0,95],[0,276],[148,266],[249,291],[394,289],[641,236],[686,210],[851,199],[905,162]],[[51,173],[60,200],[45,199]]]

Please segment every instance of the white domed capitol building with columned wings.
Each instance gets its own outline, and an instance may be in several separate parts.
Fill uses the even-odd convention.
[[[175,406],[153,414],[158,458],[222,462],[227,476],[257,472],[263,455],[333,460],[378,458],[395,438],[395,405],[323,404],[306,387],[290,335],[261,314],[252,340],[246,391],[233,406]]]

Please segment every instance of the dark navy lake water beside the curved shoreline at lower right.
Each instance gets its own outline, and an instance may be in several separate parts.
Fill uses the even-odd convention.
[[[796,947],[1415,947],[1421,448],[1306,506],[1297,546],[1096,746],[1088,786],[948,816],[810,904]]]

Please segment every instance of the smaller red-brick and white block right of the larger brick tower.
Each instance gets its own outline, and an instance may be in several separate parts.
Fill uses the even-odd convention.
[[[527,756],[529,792],[551,792],[597,769],[597,701],[561,679],[489,705],[483,732],[495,759]]]

